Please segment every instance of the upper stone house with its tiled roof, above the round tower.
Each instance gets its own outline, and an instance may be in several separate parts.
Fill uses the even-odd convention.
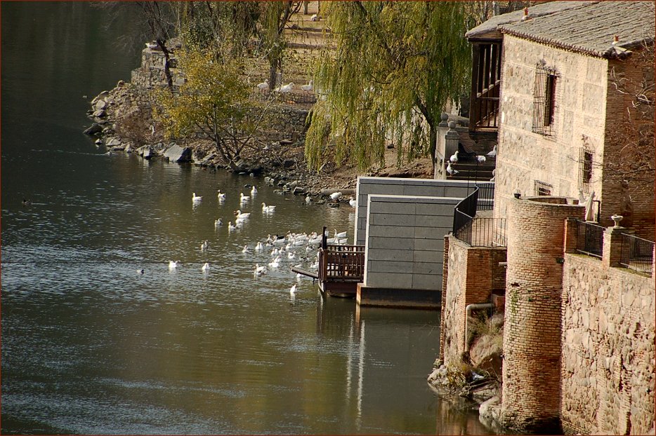
[[[506,15],[468,32],[503,41],[478,44],[480,62],[499,62],[495,216],[507,215],[514,193],[579,198],[580,190],[595,193],[593,221],[609,226],[621,214],[653,240],[653,172],[624,171],[635,160],[653,168],[653,136],[638,138],[643,125],[653,131],[653,111],[643,118],[632,91],[617,88],[653,87],[654,57],[644,54],[654,50],[654,3],[556,1]]]

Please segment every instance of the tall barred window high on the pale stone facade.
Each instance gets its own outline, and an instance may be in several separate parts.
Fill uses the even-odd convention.
[[[556,84],[558,73],[546,67],[544,61],[535,68],[535,87],[533,90],[532,130],[540,135],[553,134],[553,118],[556,114]]]

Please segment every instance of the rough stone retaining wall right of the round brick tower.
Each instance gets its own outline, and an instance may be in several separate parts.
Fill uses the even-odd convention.
[[[580,254],[565,254],[563,273],[560,414],[565,432],[649,434],[654,425],[653,279]]]

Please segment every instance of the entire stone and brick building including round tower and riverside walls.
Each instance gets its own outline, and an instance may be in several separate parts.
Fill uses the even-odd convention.
[[[497,294],[506,427],[654,432],[654,173],[630,167],[654,167],[653,106],[634,92],[653,96],[654,16],[553,1],[466,35],[469,137],[497,135],[496,186],[492,216],[445,238],[440,358],[468,357],[468,315]]]

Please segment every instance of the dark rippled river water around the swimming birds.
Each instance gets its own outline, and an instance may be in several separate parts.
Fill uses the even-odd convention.
[[[313,256],[303,247],[254,276],[271,261],[253,250],[269,233],[328,226],[353,240],[350,207],[105,156],[81,133],[88,101],[129,81],[143,46],[115,45],[136,13],[110,25],[103,14],[83,2],[1,4],[1,432],[490,434],[426,384],[438,312],[323,298],[289,271]],[[241,207],[247,224],[215,228],[247,184],[259,188]]]

